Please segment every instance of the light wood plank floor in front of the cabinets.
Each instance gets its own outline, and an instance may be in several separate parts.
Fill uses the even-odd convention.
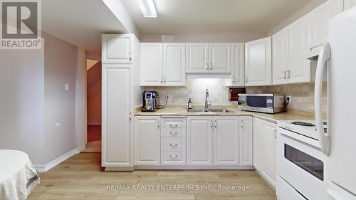
[[[251,170],[136,170],[103,172],[99,153],[80,153],[40,174],[41,184],[28,199],[276,199],[273,189]],[[147,190],[108,190],[115,186],[154,186]],[[161,188],[158,189],[157,185]],[[193,186],[162,189],[162,186]],[[223,186],[249,186],[248,190],[219,190]],[[202,188],[202,186],[205,186]],[[198,189],[197,189],[197,188]]]

